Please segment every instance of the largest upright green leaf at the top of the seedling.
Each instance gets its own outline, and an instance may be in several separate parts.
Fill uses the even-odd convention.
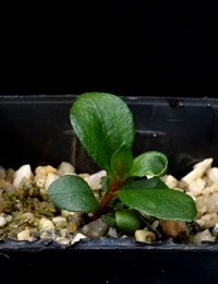
[[[84,93],[70,111],[75,134],[93,161],[111,173],[111,157],[124,143],[132,147],[135,129],[128,104],[108,93]]]

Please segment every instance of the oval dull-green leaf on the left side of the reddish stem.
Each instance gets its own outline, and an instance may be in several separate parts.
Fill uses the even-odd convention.
[[[88,213],[98,208],[88,184],[74,175],[65,175],[55,180],[48,189],[48,196],[59,209]]]

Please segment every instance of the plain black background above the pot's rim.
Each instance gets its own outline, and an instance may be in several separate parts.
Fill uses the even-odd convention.
[[[9,7],[1,95],[217,96],[217,1]]]

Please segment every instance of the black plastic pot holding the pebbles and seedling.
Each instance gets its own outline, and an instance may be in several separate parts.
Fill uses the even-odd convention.
[[[34,168],[68,161],[75,164],[77,173],[95,171],[96,166],[70,125],[74,99],[74,95],[0,97],[0,164],[13,168],[31,164]],[[136,123],[135,155],[147,150],[162,151],[169,157],[169,173],[177,177],[206,157],[213,157],[214,165],[218,165],[216,98],[124,99]],[[1,283],[217,283],[217,242],[0,242]]]

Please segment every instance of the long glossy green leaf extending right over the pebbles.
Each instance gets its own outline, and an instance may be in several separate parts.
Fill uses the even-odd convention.
[[[193,221],[197,213],[194,200],[174,189],[119,190],[118,197],[125,205],[157,218]]]

